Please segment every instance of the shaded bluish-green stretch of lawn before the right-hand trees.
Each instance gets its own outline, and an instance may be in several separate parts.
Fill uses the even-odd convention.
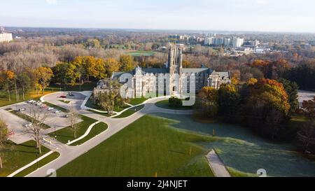
[[[227,167],[248,174],[265,169],[267,176],[315,176],[315,161],[302,157],[289,143],[272,143],[248,129],[223,123],[202,123],[187,115],[155,113],[155,116],[175,120],[177,129],[223,138],[223,141],[200,143],[210,150],[216,148]]]

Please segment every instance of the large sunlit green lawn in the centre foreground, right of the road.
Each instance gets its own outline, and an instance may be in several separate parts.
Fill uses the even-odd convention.
[[[146,115],[57,171],[58,176],[214,176],[197,143],[212,141]],[[150,124],[150,125],[148,125]],[[190,153],[191,148],[191,153]]]

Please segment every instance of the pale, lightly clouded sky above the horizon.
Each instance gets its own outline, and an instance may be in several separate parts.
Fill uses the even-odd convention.
[[[315,33],[314,0],[0,0],[0,26]]]

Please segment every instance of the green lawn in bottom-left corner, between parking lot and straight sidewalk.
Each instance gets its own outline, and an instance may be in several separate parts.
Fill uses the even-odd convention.
[[[0,169],[0,177],[8,176],[21,167],[33,162],[37,157],[41,157],[50,151],[44,146],[41,146],[41,150],[42,153],[39,155],[35,141],[28,141],[20,145],[9,141],[6,143],[6,150],[1,153],[3,169]]]

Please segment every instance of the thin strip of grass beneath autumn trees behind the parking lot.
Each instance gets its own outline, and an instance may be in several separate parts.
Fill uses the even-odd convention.
[[[72,92],[82,92],[82,91],[92,91],[94,87],[97,86],[97,82],[90,82],[84,83],[83,85],[76,84],[76,85],[59,85],[59,84],[51,84],[48,87],[48,90],[55,90],[55,91],[72,91]]]

